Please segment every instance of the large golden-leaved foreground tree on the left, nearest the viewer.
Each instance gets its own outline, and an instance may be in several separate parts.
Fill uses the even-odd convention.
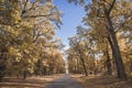
[[[46,44],[62,23],[61,16],[52,1],[0,1],[0,80],[6,74],[23,75],[23,78],[33,74],[43,53],[40,38],[42,47],[52,45]]]

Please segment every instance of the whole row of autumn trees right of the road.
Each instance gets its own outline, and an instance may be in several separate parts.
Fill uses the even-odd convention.
[[[69,0],[77,2],[77,0]],[[132,2],[130,0],[85,0],[79,2],[85,26],[69,37],[68,69],[74,74],[132,75]]]

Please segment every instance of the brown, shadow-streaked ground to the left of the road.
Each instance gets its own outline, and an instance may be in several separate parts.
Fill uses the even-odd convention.
[[[61,76],[29,77],[25,80],[15,77],[6,77],[0,88],[44,88]]]

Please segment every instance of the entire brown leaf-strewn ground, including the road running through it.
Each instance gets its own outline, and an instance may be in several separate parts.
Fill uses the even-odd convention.
[[[25,80],[7,77],[0,88],[132,88],[132,79],[120,81],[113,76],[81,75],[29,77]]]

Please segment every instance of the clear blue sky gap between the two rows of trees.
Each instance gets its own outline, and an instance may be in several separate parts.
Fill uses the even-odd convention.
[[[63,44],[66,48],[69,47],[68,37],[76,34],[76,28],[81,23],[85,11],[82,7],[68,3],[67,0],[54,0],[54,4],[58,7],[59,11],[63,12],[61,30],[57,30],[57,37],[62,37]]]

